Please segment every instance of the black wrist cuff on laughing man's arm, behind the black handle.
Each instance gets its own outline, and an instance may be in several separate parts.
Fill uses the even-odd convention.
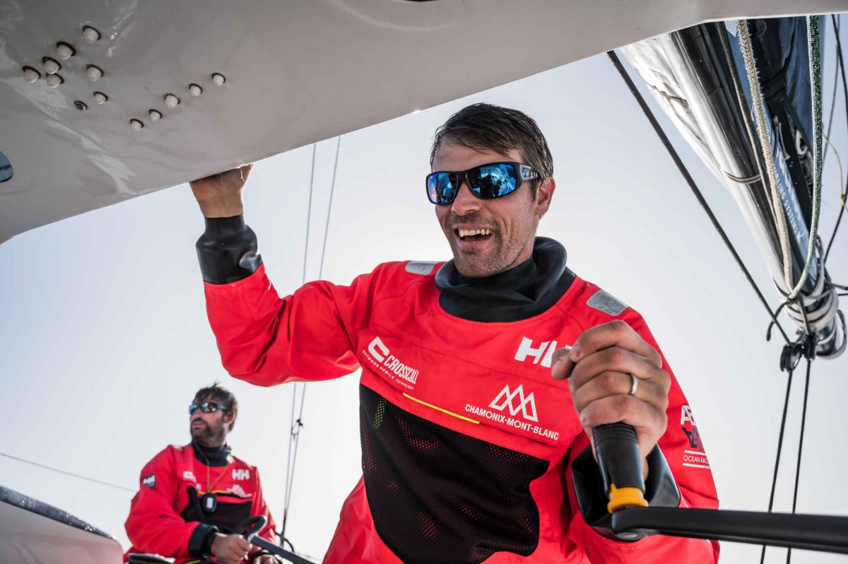
[[[672,469],[668,467],[666,457],[662,455],[657,445],[648,455],[648,479],[644,483],[644,499],[648,505],[655,507],[677,507],[680,505],[680,490],[674,481]],[[572,479],[574,494],[577,496],[577,507],[583,516],[583,521],[608,539],[633,540],[642,539],[650,534],[643,534],[638,539],[619,539],[612,532],[612,517],[606,511],[609,499],[604,491],[604,481],[600,475],[598,463],[594,461],[592,447],[586,447],[572,462]]]

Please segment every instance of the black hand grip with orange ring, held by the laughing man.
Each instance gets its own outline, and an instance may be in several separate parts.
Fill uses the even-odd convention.
[[[604,491],[610,498],[610,513],[624,507],[647,507],[644,500],[642,457],[636,431],[625,422],[599,425],[592,429],[594,452],[598,455]]]

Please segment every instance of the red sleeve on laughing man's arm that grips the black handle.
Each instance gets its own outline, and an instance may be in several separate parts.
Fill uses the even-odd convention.
[[[645,324],[642,316],[634,310],[626,310],[619,319],[627,321],[630,327],[639,333],[652,347],[662,355],[654,336]],[[606,319],[605,321],[610,321]],[[594,325],[599,324],[598,321]],[[672,377],[672,388],[668,392],[668,423],[666,433],[660,438],[659,446],[672,471],[680,492],[679,507],[700,507],[715,509],[718,507],[718,495],[712,479],[709,462],[704,453],[700,434],[695,427],[694,416],[689,407],[689,401],[683,395],[683,390],[665,355],[662,355],[662,367]],[[681,414],[687,421],[682,421]],[[566,469],[566,483],[569,489],[568,500],[571,522],[564,526],[568,528],[569,536],[578,546],[586,551],[589,560],[593,562],[635,562],[640,564],[668,564],[668,562],[689,562],[692,564],[713,564],[718,561],[719,545],[716,541],[703,539],[683,539],[655,535],[634,543],[627,543],[606,537],[595,532],[583,521],[574,494],[571,466],[574,457],[589,446],[589,438],[581,433],[569,450],[569,460]]]

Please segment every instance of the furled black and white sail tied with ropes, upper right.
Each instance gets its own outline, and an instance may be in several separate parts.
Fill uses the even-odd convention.
[[[813,215],[811,58],[804,18],[749,20],[762,92],[762,125],[772,148],[756,142],[755,103],[736,28],[695,25],[622,49],[662,109],[732,194],[786,299],[801,279]],[[750,116],[750,117],[749,117]],[[767,175],[767,159],[774,174]],[[824,268],[819,240],[806,282],[786,310],[817,355],[845,349],[845,317]]]

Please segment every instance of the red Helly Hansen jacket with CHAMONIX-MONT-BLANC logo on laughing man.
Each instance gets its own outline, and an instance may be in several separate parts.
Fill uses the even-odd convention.
[[[363,479],[345,500],[326,564],[713,562],[718,544],[607,539],[577,510],[573,459],[588,445],[551,355],[586,329],[639,314],[576,278],[549,310],[477,322],[439,305],[438,265],[388,263],[350,286],[310,282],[280,299],[265,266],[204,284],[232,376],[261,386],[362,369]],[[620,307],[619,307],[620,306]],[[670,369],[663,360],[663,367]],[[659,446],[682,507],[717,506],[695,418],[672,375]],[[650,477],[649,477],[650,479]]]

